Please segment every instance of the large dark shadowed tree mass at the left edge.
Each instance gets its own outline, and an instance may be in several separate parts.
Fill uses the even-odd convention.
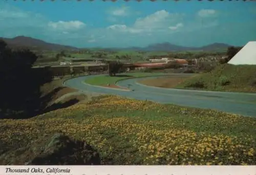
[[[50,101],[40,101],[40,86],[52,76],[47,69],[32,68],[36,59],[29,49],[14,50],[0,40],[0,118],[33,116]]]

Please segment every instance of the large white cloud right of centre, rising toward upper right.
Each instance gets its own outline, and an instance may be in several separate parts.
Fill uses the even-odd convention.
[[[130,32],[130,33],[141,33],[141,32],[153,32],[153,31],[163,31],[168,29],[170,24],[174,24],[177,20],[181,20],[183,14],[169,13],[166,10],[157,11],[151,15],[138,18],[133,26],[127,27],[124,24],[114,24],[109,26],[108,29],[112,29],[120,32]],[[182,23],[177,24],[178,28],[182,27]]]

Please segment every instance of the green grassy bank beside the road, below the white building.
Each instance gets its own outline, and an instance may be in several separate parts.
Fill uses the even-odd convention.
[[[224,64],[209,73],[202,73],[176,86],[228,92],[256,92],[256,66]]]

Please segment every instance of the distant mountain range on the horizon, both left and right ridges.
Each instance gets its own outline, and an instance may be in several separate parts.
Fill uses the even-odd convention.
[[[54,44],[45,42],[39,39],[26,37],[26,36],[17,36],[15,38],[0,38],[3,39],[10,47],[27,47],[30,49],[44,49],[44,50],[67,50],[67,49],[82,49],[68,45]],[[229,44],[225,43],[213,43],[209,45],[205,45],[202,47],[186,47],[175,45],[169,42],[164,43],[155,43],[150,44],[146,47],[125,47],[125,48],[104,48],[110,51],[166,51],[166,52],[174,52],[174,51],[217,51],[223,50],[229,47]]]

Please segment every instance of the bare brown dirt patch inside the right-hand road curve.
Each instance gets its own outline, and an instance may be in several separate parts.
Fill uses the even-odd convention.
[[[178,84],[182,83],[184,80],[188,79],[188,77],[160,77],[156,79],[145,79],[138,81],[138,83],[147,85],[147,86],[155,86],[161,88],[174,88]]]

